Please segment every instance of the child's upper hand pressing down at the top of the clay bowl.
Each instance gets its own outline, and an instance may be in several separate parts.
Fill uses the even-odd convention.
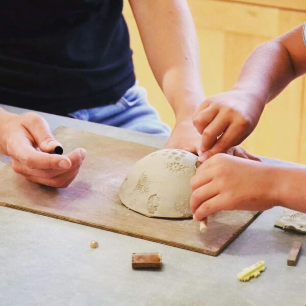
[[[205,161],[217,153],[225,153],[241,143],[256,127],[263,109],[261,101],[241,90],[206,99],[193,118],[202,135],[199,160]]]

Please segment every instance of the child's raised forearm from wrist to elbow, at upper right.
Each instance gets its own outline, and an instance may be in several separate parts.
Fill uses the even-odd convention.
[[[265,105],[295,77],[294,66],[286,46],[279,39],[272,40],[250,54],[234,90],[247,92]]]

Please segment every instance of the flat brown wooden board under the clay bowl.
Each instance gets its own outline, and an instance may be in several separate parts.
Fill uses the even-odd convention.
[[[148,218],[120,203],[118,189],[132,165],[157,150],[132,142],[59,127],[65,152],[77,147],[87,158],[74,182],[55,189],[27,182],[11,165],[0,170],[0,205],[217,256],[256,217],[256,212],[221,212],[199,232],[191,219]]]

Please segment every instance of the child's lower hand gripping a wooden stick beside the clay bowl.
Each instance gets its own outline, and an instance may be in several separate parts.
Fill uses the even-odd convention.
[[[217,154],[191,179],[194,219],[222,210],[263,211],[276,205],[277,168],[265,163]]]

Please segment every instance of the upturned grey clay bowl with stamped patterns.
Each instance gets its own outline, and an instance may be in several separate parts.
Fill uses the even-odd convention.
[[[163,149],[138,161],[123,181],[119,198],[148,217],[188,218],[190,179],[197,156],[180,149]]]

